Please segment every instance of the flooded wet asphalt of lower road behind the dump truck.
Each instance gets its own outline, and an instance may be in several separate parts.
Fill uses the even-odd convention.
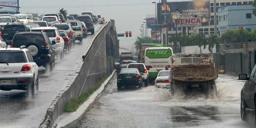
[[[80,121],[77,128],[108,127],[255,127],[240,118],[240,91],[244,81],[220,75],[216,80],[217,98],[206,99],[193,91],[171,96],[168,89],[154,86],[117,89],[116,75],[103,95]]]

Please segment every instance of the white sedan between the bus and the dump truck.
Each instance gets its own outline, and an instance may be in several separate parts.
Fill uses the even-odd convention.
[[[155,87],[157,88],[169,88],[170,71],[160,71],[155,79]]]

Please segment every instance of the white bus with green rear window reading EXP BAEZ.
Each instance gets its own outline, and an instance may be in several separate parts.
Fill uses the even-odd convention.
[[[149,47],[145,50],[145,65],[147,67],[149,78],[154,81],[159,71],[165,70],[165,66],[171,68],[171,56],[173,50],[171,47],[163,47],[161,45]]]

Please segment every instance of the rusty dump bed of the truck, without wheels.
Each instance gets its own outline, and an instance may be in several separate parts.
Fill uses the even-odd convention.
[[[172,76],[174,80],[202,82],[218,78],[211,55],[172,56]]]

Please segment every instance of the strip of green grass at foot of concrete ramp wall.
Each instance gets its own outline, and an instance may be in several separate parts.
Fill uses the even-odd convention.
[[[93,92],[95,92],[97,89],[99,89],[101,87],[101,84],[106,81],[106,79],[108,78],[104,77],[103,79],[101,79],[94,88],[89,89],[86,93],[80,95],[78,98],[75,99],[71,99],[68,103],[66,103],[66,106],[64,108],[65,112],[74,112],[78,109],[78,107],[84,103],[89,96],[91,96],[93,94]]]

